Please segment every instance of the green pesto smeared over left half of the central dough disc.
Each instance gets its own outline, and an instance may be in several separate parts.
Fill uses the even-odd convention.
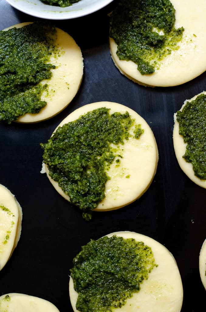
[[[92,110],[59,127],[48,143],[41,144],[49,175],[70,197],[70,202],[83,210],[87,220],[91,219],[91,210],[105,198],[105,183],[109,179],[106,170],[119,157],[118,144],[129,139],[129,129],[135,125],[128,112],[109,111]],[[138,139],[143,131],[136,125],[133,136]],[[116,151],[111,144],[117,145]]]

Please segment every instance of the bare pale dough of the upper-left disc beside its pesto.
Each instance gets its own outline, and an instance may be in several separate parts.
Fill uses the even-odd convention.
[[[12,27],[20,28],[27,24],[29,23],[21,23]],[[51,69],[53,76],[51,79],[41,81],[49,85],[48,92],[44,91],[41,97],[47,105],[38,114],[27,113],[20,116],[16,122],[35,123],[59,114],[73,100],[80,87],[83,75],[82,52],[68,33],[59,28],[56,28],[56,31],[56,45],[63,53],[58,58],[51,56],[49,63],[56,66],[55,69]]]

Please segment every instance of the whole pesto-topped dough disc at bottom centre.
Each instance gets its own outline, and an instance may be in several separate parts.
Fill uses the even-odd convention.
[[[91,241],[86,246],[83,246],[82,251],[79,253],[79,255],[77,255],[74,258],[74,262],[73,262],[74,266],[73,266],[73,269],[71,269],[71,277],[69,281],[69,295],[70,295],[70,300],[71,300],[71,304],[72,304],[74,312],[79,312],[79,311],[85,312],[87,306],[90,305],[90,300],[91,302],[93,300],[93,298],[90,297],[91,299],[90,298],[88,299],[87,297],[88,293],[92,296],[92,289],[93,289],[93,285],[91,284],[92,276],[89,277],[89,272],[90,270],[92,270],[92,263],[94,263],[93,274],[95,276],[95,280],[98,280],[100,278],[105,281],[107,280],[108,275],[110,276],[111,274],[111,276],[114,276],[114,278],[111,278],[111,282],[110,282],[111,283],[110,285],[112,286],[113,286],[113,283],[115,285],[121,285],[121,281],[124,279],[122,278],[122,276],[124,276],[125,274],[126,276],[125,279],[127,280],[128,276],[130,276],[131,271],[133,272],[133,276],[136,276],[136,278],[138,278],[137,277],[139,274],[138,272],[141,272],[141,270],[143,270],[144,265],[146,265],[147,269],[150,271],[148,272],[147,279],[142,278],[142,281],[139,283],[138,285],[140,287],[139,291],[137,290],[133,292],[132,296],[126,299],[126,302],[121,297],[117,298],[117,296],[115,295],[116,294],[115,286],[111,290],[108,290],[108,292],[110,293],[108,300],[111,299],[110,298],[110,295],[111,295],[112,299],[114,300],[114,301],[111,300],[112,305],[117,306],[117,308],[115,308],[114,311],[134,312],[134,311],[139,310],[142,312],[148,312],[148,311],[159,312],[161,310],[161,311],[170,311],[170,312],[180,312],[181,306],[182,306],[182,300],[183,300],[183,288],[182,288],[181,277],[180,277],[180,273],[179,273],[176,261],[174,257],[172,256],[172,254],[166,249],[166,247],[148,236],[138,234],[135,232],[127,232],[127,231],[126,232],[114,232],[114,233],[109,234],[108,237],[110,239],[109,241],[107,240],[103,241],[103,239],[105,240],[104,237],[98,240],[99,241],[98,244],[100,244],[100,241],[102,241],[101,244],[103,243],[104,245],[102,249],[101,249],[101,245],[100,245],[100,248],[97,249],[96,247],[97,243],[95,242],[94,244],[94,241]],[[125,253],[124,252],[122,253],[121,251],[121,248],[124,245],[121,243],[121,241],[119,242],[119,240],[117,240],[120,237],[123,237],[124,240],[127,240],[127,239],[133,240],[133,242],[127,242],[127,246],[129,244],[131,244],[132,246],[132,249],[130,247],[127,249],[128,256],[125,256]],[[137,243],[138,248],[139,248],[138,249],[139,251],[136,253],[136,256],[139,257],[139,261],[137,261],[136,263],[137,264],[136,269],[133,268],[134,266],[133,261],[131,261],[132,263],[129,263],[129,264],[127,263],[127,260],[130,259],[130,257],[133,257],[132,256],[133,252],[135,253],[134,251],[135,249],[133,250],[134,240]],[[89,247],[90,249],[88,249],[87,246],[89,246],[90,244],[92,244],[94,251],[90,247]],[[115,251],[114,251],[114,248],[116,248]],[[145,258],[144,253],[141,253],[142,248],[146,250],[146,254],[147,254],[146,258]],[[125,251],[125,249],[126,247],[123,250]],[[87,256],[84,257],[84,251],[89,252],[89,250],[90,250],[90,253],[88,253]],[[123,258],[121,258],[121,253],[124,256],[124,260]],[[114,255],[115,256],[117,255],[120,258],[117,260],[115,259]],[[104,257],[105,257],[105,261],[104,261]],[[151,265],[152,264],[151,257],[153,257],[155,261],[153,265]],[[100,266],[99,268],[98,268],[98,261],[97,263],[95,261],[96,258],[99,261],[99,266]],[[83,262],[81,262],[81,259]],[[135,256],[133,259],[135,259]],[[101,263],[101,261],[103,261],[103,263]],[[124,267],[124,264],[126,265],[125,267]],[[76,278],[78,276],[77,267],[82,272],[81,280]],[[119,268],[121,269],[121,271],[119,271]],[[87,283],[86,280],[84,280],[84,277],[87,276],[87,274],[88,274],[87,281],[89,280],[90,283]],[[120,282],[118,282],[119,279],[120,279]],[[94,287],[95,287],[95,280],[93,279]],[[130,285],[134,285],[134,284],[136,285],[136,282],[133,281],[133,278],[129,279],[129,281],[130,281]],[[81,302],[79,301],[77,303],[77,298],[79,294],[77,293],[76,290],[74,290],[74,285],[77,285],[78,289],[81,289],[81,286],[79,287],[79,285],[85,285],[82,288],[83,289],[82,292],[84,293],[84,298],[85,298],[85,301],[82,300],[83,304],[81,304]],[[104,287],[106,287],[104,283],[102,283],[98,287],[96,286],[96,288],[99,289],[98,290],[99,294],[95,293],[95,296],[97,295],[97,297],[98,296],[101,297],[102,295],[104,297],[105,295]],[[124,291],[122,291],[122,289],[117,288],[117,291],[119,292],[119,294],[124,294]],[[125,296],[128,295],[129,291],[131,290],[127,288],[127,292]],[[103,297],[101,297],[101,299]],[[81,298],[82,296],[80,296],[80,299]],[[94,305],[96,305],[95,298],[94,298]],[[97,300],[99,302],[98,298]],[[105,304],[107,304],[107,300],[104,301],[102,299],[101,302],[105,302]],[[77,303],[77,306],[80,306],[80,310],[77,310],[76,303]],[[119,305],[121,307],[119,307]],[[84,306],[85,306],[85,309],[84,309]],[[108,306],[106,308],[109,309]]]

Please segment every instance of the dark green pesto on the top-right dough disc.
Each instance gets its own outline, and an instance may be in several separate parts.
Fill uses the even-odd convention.
[[[133,61],[142,74],[152,74],[159,61],[179,48],[183,27],[175,28],[169,0],[121,0],[110,15],[110,37],[120,60]]]

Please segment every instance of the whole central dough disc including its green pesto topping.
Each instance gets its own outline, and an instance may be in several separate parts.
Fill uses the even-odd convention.
[[[80,116],[83,116],[85,120],[80,122]],[[118,118],[122,118],[121,121],[118,121]],[[118,132],[120,130],[118,127],[120,127],[119,125],[121,123],[124,124],[125,127],[128,127],[128,124],[126,123],[129,123],[129,120],[131,120],[132,125],[129,130],[123,134],[124,138],[120,138],[120,132]],[[71,126],[73,126],[72,124],[74,121],[80,124],[75,130],[69,130],[70,132],[68,131],[67,135],[62,134],[62,129],[60,130],[61,132],[59,131],[59,127],[65,127],[63,126],[65,124],[70,123]],[[114,124],[112,124],[112,122]],[[82,132],[84,127],[85,133],[84,131]],[[75,133],[75,135],[71,135],[71,133]],[[138,135],[138,138],[135,138],[134,133],[136,133],[135,135]],[[113,138],[111,138],[112,135],[114,136]],[[119,141],[117,144],[111,143],[117,140],[118,136]],[[125,139],[126,136],[128,136],[128,139]],[[56,145],[56,141],[58,140],[56,140],[57,137],[64,137],[62,143],[60,143],[58,147]],[[109,144],[107,138],[110,138]],[[59,186],[61,185],[62,180],[60,180],[60,183],[57,182],[57,179],[54,181],[57,176],[54,171],[57,170],[59,174],[59,170],[62,170],[61,167],[63,166],[63,163],[68,164],[68,170],[73,170],[73,167],[77,166],[78,159],[83,157],[81,156],[82,153],[85,153],[86,155],[91,154],[88,163],[84,163],[86,156],[85,159],[82,159],[82,163],[80,163],[81,169],[77,166],[77,173],[73,173],[71,170],[67,172],[67,169],[63,169],[68,175],[72,175],[73,180],[76,179],[75,183],[77,186],[74,186],[75,189],[81,183],[83,183],[84,186],[86,185],[84,190],[78,189],[78,193],[82,192],[83,199],[85,198],[85,193],[86,198],[88,196],[88,201],[86,203],[83,202],[82,204],[82,210],[84,212],[88,211],[87,204],[90,205],[89,211],[114,210],[128,205],[143,195],[156,173],[158,150],[152,130],[146,121],[135,111],[118,103],[97,102],[80,107],[68,115],[68,117],[59,124],[54,130],[51,139],[53,141],[55,140],[54,144],[50,140],[48,144],[42,144],[44,155],[46,155],[45,157],[43,156],[44,163],[46,164],[46,173],[54,188],[68,201],[71,201],[70,196]],[[72,142],[71,146],[68,144],[70,141]],[[72,153],[71,150],[73,149],[74,141],[77,142],[78,148],[75,147],[74,152]],[[105,143],[103,143],[103,141]],[[79,144],[79,142],[81,143]],[[65,149],[65,145],[68,145],[67,149]],[[86,149],[87,145],[89,148],[91,145],[91,150]],[[102,146],[102,149],[99,149],[100,146]],[[98,152],[96,152],[97,148]],[[59,150],[63,151],[63,160],[59,158]],[[54,157],[55,154],[57,156],[56,159]],[[96,163],[94,158],[100,158],[100,161],[104,158],[105,162],[104,164],[102,162],[99,163],[99,161]],[[59,165],[56,166],[56,163],[59,163]],[[101,166],[105,166],[103,173],[99,170]],[[81,172],[82,168],[83,173]],[[51,171],[53,171],[53,175],[51,174]],[[88,181],[82,178],[84,177],[84,174],[89,176],[89,178],[87,177],[89,179]],[[54,177],[54,179],[52,177]],[[103,183],[103,181],[105,181],[105,183]],[[99,190],[100,185],[102,185],[103,193]],[[93,189],[89,189],[89,186],[92,186],[95,190],[93,191]],[[63,185],[63,187],[64,189],[67,189],[67,187],[70,186]],[[76,196],[73,192],[71,193],[73,197]],[[98,201],[95,201],[96,194],[99,196]],[[81,199],[80,204],[74,200],[71,202],[77,204],[81,208]]]

